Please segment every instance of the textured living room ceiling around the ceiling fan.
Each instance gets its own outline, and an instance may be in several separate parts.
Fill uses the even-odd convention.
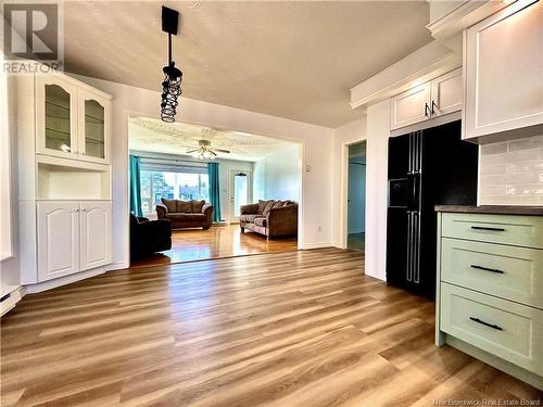
[[[218,158],[241,161],[257,161],[295,145],[292,142],[247,132],[223,131],[179,122],[168,124],[141,116],[128,119],[128,140],[130,150],[179,155],[187,155],[188,150],[198,148],[199,140],[209,140],[212,150],[215,148],[230,151],[229,154],[217,152]]]

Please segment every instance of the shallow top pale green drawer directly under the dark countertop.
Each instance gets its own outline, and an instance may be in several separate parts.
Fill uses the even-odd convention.
[[[442,236],[543,249],[543,217],[443,214]]]

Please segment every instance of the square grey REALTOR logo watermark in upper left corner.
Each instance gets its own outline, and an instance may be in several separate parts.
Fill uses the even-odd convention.
[[[4,73],[24,75],[63,71],[62,1],[2,2],[2,16]]]

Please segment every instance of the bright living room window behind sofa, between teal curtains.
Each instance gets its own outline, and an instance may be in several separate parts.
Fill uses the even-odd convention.
[[[207,174],[141,170],[141,209],[153,214],[161,198],[210,201]]]

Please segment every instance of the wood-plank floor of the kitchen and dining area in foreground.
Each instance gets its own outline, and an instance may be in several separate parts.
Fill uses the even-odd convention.
[[[2,318],[2,406],[433,406],[535,389],[433,345],[433,303],[301,251],[109,272]]]

